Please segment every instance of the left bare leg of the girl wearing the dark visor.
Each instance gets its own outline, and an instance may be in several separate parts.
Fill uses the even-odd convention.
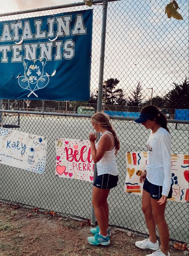
[[[154,220],[154,215],[152,212],[151,197],[150,193],[148,193],[144,189],[142,192],[142,211],[145,215],[146,225],[149,232],[149,239],[152,243],[156,243],[156,222]]]

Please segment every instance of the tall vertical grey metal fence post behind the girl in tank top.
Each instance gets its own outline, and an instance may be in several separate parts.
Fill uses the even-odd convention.
[[[106,21],[107,21],[107,9],[108,1],[104,0],[102,4],[102,33],[101,33],[101,46],[100,46],[100,70],[99,70],[99,80],[98,80],[98,101],[97,101],[97,112],[102,110],[102,89],[103,89],[103,76],[104,76],[104,54],[105,54],[105,43],[106,43]],[[97,133],[96,141],[100,139],[100,133]],[[97,169],[95,164],[94,169],[94,180],[97,176]],[[92,206],[91,212],[91,225],[95,226],[95,211]]]

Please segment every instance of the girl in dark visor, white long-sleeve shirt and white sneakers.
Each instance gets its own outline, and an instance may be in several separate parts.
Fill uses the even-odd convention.
[[[142,108],[139,117],[134,120],[151,129],[147,141],[146,170],[140,176],[144,182],[142,210],[145,215],[149,238],[136,242],[141,249],[154,250],[147,256],[170,256],[169,229],[165,221],[167,198],[172,197],[171,187],[171,135],[167,128],[167,118],[153,105]],[[156,224],[159,230],[161,249],[156,237]]]

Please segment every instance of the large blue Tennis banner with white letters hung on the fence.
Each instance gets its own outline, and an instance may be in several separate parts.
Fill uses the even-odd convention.
[[[0,99],[87,101],[93,10],[0,22]]]

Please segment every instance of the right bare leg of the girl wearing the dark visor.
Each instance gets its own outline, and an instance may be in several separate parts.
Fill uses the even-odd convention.
[[[158,200],[151,198],[152,202],[152,210],[154,214],[154,219],[158,226],[159,230],[159,238],[161,242],[161,252],[165,255],[168,255],[169,250],[169,228],[165,221],[165,207],[166,202],[164,204],[159,205]]]

